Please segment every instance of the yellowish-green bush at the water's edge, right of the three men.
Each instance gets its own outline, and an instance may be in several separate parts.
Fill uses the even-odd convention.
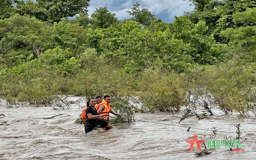
[[[185,100],[182,80],[177,74],[147,70],[142,74],[138,96],[148,111],[175,112]]]

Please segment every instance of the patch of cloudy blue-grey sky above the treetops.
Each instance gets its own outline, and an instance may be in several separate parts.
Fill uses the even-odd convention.
[[[116,13],[118,20],[130,18],[126,11],[131,10],[132,4],[138,2],[140,9],[147,8],[153,12],[156,17],[165,22],[172,22],[174,16],[181,16],[184,11],[188,12],[194,9],[189,6],[190,2],[183,0],[91,0],[88,7],[89,15],[98,7],[108,7],[112,13]]]

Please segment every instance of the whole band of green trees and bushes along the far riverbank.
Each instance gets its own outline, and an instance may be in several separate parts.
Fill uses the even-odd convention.
[[[213,115],[213,107],[256,117],[256,2],[189,1],[194,11],[166,23],[138,3],[131,19],[119,21],[106,7],[88,16],[89,0],[64,8],[7,0],[0,97],[10,105],[52,104],[56,95],[108,94],[128,123],[136,111],[173,114],[181,106],[182,120]]]

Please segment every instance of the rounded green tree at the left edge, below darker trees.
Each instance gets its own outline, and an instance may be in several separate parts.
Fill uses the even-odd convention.
[[[24,60],[31,54],[37,57],[51,34],[51,27],[34,17],[14,15],[0,20],[0,54],[8,66],[12,66],[11,57],[23,55]]]

